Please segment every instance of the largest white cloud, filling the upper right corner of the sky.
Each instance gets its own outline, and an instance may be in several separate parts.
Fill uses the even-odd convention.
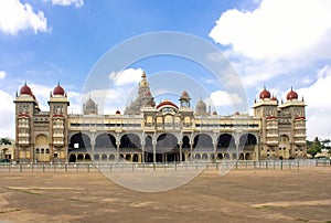
[[[329,0],[263,0],[253,11],[222,13],[210,36],[252,59],[310,54],[330,49],[330,11]]]

